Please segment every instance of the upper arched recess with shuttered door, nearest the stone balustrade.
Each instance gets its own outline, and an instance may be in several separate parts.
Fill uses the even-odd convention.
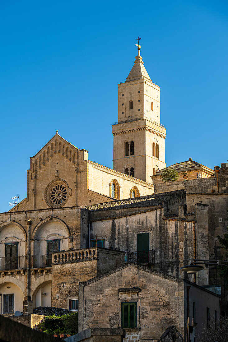
[[[48,218],[41,221],[31,234],[33,255],[46,255],[51,252],[68,250],[72,247],[69,236],[70,232],[66,223],[59,218],[52,218],[52,220]],[[51,241],[53,249],[50,249],[52,248]]]

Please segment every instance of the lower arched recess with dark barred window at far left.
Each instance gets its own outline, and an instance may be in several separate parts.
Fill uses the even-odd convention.
[[[2,313],[14,314],[15,311],[23,311],[23,301],[25,292],[22,282],[14,277],[5,277],[0,284],[2,294]]]

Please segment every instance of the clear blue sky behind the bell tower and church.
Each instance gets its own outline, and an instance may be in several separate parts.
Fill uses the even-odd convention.
[[[117,84],[137,54],[161,87],[166,165],[226,162],[227,1],[1,1],[0,211],[59,130],[112,167]]]

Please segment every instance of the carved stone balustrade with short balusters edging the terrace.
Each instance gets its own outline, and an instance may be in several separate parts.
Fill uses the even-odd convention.
[[[52,264],[66,264],[97,259],[97,247],[52,253]]]

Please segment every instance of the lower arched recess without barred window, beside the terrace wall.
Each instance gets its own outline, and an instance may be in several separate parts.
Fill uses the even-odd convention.
[[[32,294],[33,306],[51,306],[51,280],[42,282]]]

